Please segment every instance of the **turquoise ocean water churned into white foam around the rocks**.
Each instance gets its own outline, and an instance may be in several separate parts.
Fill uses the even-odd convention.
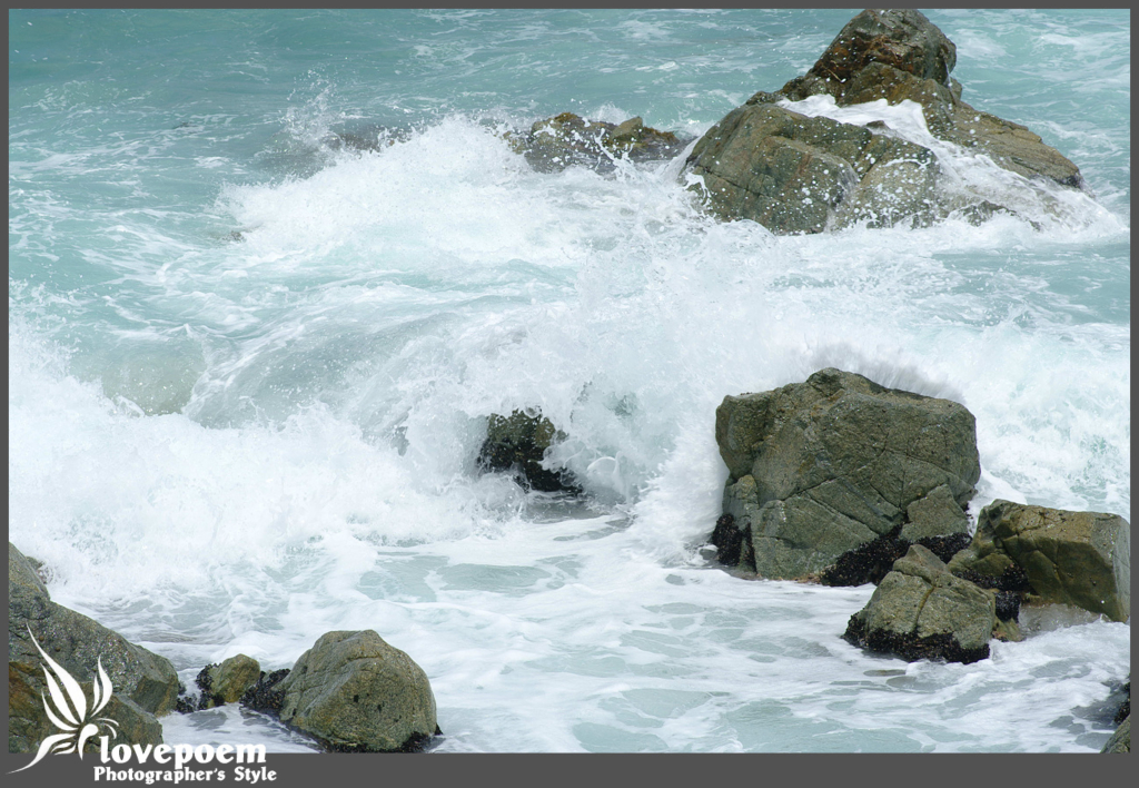
[[[374,628],[429,676],[436,752],[1098,750],[1130,623],[907,664],[841,639],[871,586],[706,543],[716,405],[825,366],[974,413],[973,517],[1130,519],[1130,13],[927,13],[965,100],[1090,187],[929,143],[1019,212],[980,227],[776,237],[702,214],[682,159],[539,173],[502,139],[567,109],[697,136],[852,15],[10,11],[11,541],[188,685]],[[912,105],[798,109],[927,140]],[[582,501],[477,472],[515,408]],[[239,708],[163,723],[311,749]]]

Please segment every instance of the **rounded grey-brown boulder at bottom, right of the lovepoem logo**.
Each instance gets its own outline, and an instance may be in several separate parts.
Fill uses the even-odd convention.
[[[329,749],[418,750],[439,730],[427,675],[370,629],[322,635],[280,689],[281,722]]]

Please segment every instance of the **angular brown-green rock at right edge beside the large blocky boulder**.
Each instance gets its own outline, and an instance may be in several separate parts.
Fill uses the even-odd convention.
[[[997,499],[981,510],[972,544],[949,568],[990,578],[1021,570],[1033,601],[1071,604],[1115,622],[1131,615],[1131,529],[1115,514]]]

